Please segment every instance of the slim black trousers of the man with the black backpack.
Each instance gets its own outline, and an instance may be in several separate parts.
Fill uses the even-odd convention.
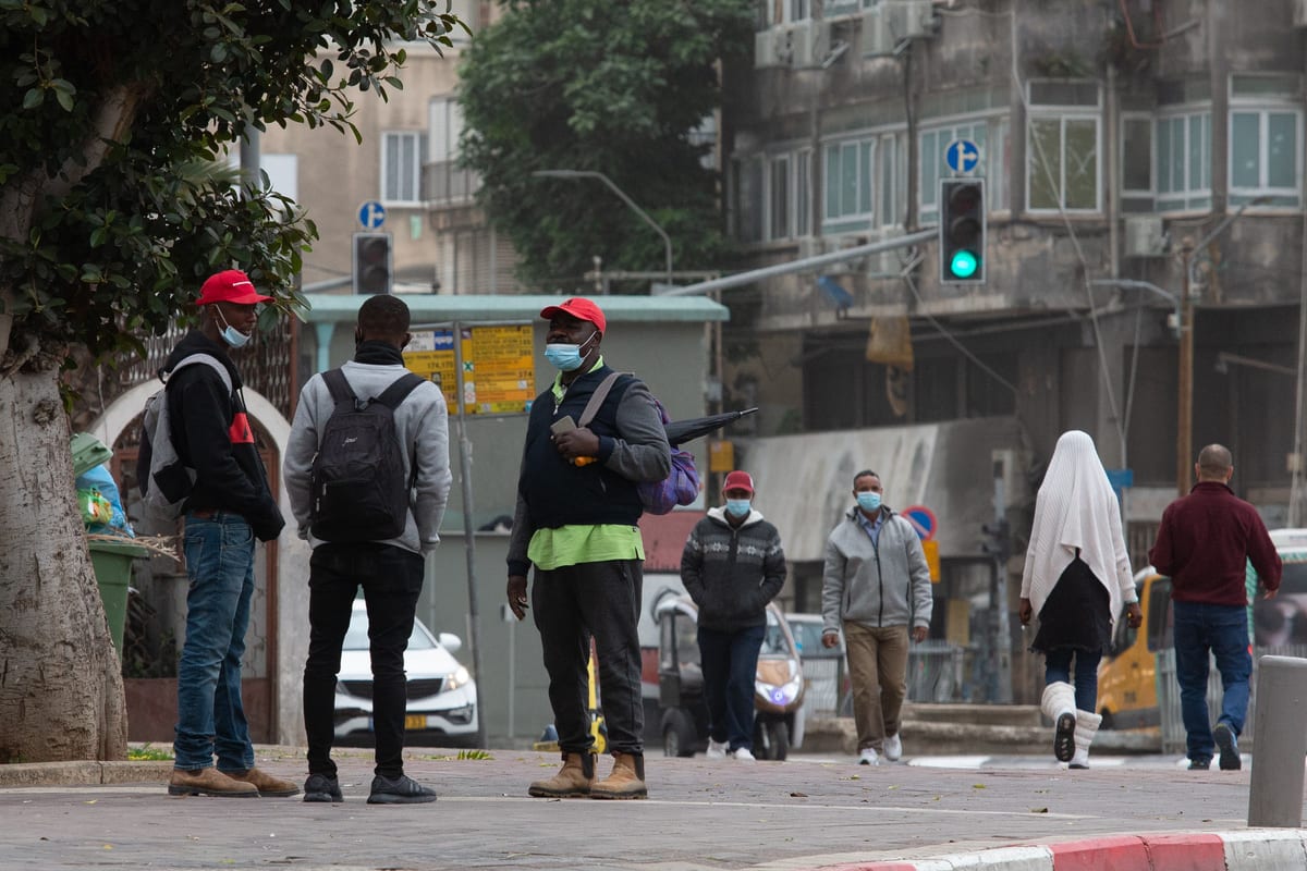
[[[389,545],[319,545],[308,563],[308,661],[305,663],[305,733],[308,773],[336,776],[336,675],[358,589],[367,601],[372,658],[372,729],[376,773],[404,773],[408,688],[404,650],[422,592],[423,560]]]

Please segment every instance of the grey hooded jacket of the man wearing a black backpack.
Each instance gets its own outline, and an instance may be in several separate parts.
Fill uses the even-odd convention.
[[[380,366],[350,360],[341,367],[350,389],[359,397],[380,396],[395,379],[408,372],[403,366]],[[290,508],[299,524],[299,537],[312,547],[323,542],[308,534],[308,513],[312,504],[310,467],[318,454],[320,432],[335,410],[331,390],[322,375],[308,379],[299,392],[295,420],[290,424],[290,443],[282,474]],[[395,409],[395,434],[404,448],[404,471],[413,479],[409,494],[409,516],[404,534],[383,545],[403,547],[414,554],[426,554],[440,543],[440,518],[450,500],[450,415],[440,388],[427,381],[420,384]],[[413,475],[413,464],[417,475]]]

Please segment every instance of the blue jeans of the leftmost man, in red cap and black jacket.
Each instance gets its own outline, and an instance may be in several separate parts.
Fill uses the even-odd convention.
[[[186,644],[176,667],[174,767],[254,768],[240,657],[254,595],[254,531],[239,515],[186,516]]]

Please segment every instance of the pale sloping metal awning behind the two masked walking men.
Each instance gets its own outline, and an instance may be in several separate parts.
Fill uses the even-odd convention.
[[[757,439],[746,445],[742,467],[757,482],[754,505],[780,531],[788,560],[823,558],[826,537],[853,505],[853,475],[863,469],[881,475],[891,508],[925,505],[935,513],[940,556],[980,556],[980,526],[993,520],[993,451],[1014,452],[1008,507],[1033,499],[1022,441],[1016,418],[842,430]]]

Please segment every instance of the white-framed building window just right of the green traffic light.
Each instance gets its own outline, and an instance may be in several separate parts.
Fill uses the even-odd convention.
[[[1099,212],[1099,89],[1097,82],[1030,82],[1026,208]]]

